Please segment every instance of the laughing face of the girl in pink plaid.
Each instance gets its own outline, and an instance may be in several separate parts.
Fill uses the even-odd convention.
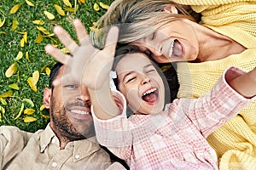
[[[126,54],[116,66],[119,91],[135,114],[156,114],[165,105],[162,78],[145,54]]]

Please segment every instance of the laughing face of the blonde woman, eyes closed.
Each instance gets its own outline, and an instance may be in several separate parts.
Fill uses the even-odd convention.
[[[159,63],[195,60],[199,44],[191,23],[188,19],[174,20],[148,37],[132,43],[152,54]]]

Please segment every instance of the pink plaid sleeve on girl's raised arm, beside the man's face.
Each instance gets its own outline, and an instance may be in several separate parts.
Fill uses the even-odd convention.
[[[113,98],[119,106],[121,114],[112,119],[101,120],[96,117],[91,108],[98,142],[121,159],[131,156],[131,130],[126,116],[126,101],[123,94],[113,90]]]

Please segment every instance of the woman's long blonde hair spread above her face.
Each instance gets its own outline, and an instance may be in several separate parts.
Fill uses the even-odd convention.
[[[165,12],[170,5],[177,8],[178,14]],[[119,43],[136,41],[173,20],[194,20],[187,9],[189,6],[170,0],[115,0],[107,13],[97,21],[97,31],[90,32],[91,42],[97,48],[103,48],[106,34],[113,25],[119,27]]]

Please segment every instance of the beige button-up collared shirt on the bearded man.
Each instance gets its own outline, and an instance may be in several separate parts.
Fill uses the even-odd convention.
[[[49,125],[36,133],[17,127],[0,127],[1,169],[107,169],[112,163],[95,137],[69,142],[60,150]],[[114,165],[116,165],[115,163]],[[111,169],[115,166],[111,166]],[[119,167],[119,165],[117,166]]]

